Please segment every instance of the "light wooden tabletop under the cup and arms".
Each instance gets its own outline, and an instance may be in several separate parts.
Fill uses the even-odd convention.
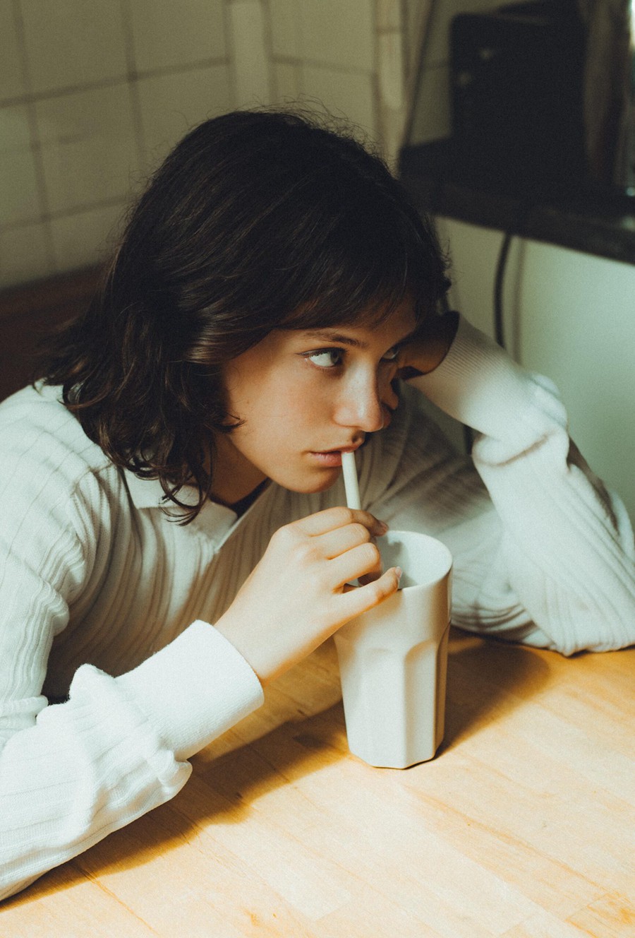
[[[436,759],[347,751],[326,643],[170,804],[0,906],[1,938],[635,935],[635,649],[450,640]]]

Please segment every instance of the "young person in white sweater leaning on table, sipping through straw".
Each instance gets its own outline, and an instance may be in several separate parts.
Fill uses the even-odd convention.
[[[448,544],[457,625],[635,641],[624,507],[554,386],[435,314],[447,288],[429,223],[346,135],[229,113],[166,159],[45,380],[0,407],[0,897],[170,799],[390,596],[384,522]],[[477,431],[472,459],[424,396]]]

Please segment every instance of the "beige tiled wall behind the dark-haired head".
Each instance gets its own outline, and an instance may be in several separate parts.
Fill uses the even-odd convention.
[[[157,160],[235,107],[318,100],[393,159],[424,2],[0,0],[0,287],[95,263]]]

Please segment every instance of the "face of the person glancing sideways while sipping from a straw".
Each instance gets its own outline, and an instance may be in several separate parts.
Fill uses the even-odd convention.
[[[228,504],[269,477],[293,492],[322,492],[343,449],[391,422],[400,344],[414,331],[411,303],[378,326],[276,329],[225,369],[227,407],[243,421],[216,439],[214,496]]]

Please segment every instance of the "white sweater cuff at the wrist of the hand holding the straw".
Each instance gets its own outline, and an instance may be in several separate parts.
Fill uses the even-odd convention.
[[[207,622],[116,679],[177,760],[188,759],[263,703],[256,673]]]

